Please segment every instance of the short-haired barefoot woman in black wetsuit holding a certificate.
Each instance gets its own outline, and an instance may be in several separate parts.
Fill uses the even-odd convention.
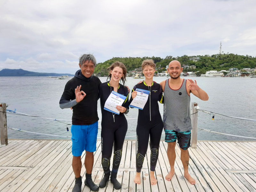
[[[139,109],[138,124],[136,128],[138,150],[136,156],[136,175],[134,182],[140,184],[140,171],[144,161],[144,157],[148,148],[148,140],[150,136],[150,183],[154,185],[157,183],[155,177],[155,168],[158,158],[159,143],[163,130],[163,121],[159,112],[158,101],[163,103],[163,91],[160,84],[153,81],[153,76],[156,69],[156,64],[153,60],[144,60],[141,65],[145,80],[137,84],[132,89],[132,96],[129,103],[136,97],[138,89],[148,90],[148,100],[143,110]]]

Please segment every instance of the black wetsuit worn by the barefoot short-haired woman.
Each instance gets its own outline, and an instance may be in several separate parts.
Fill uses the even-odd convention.
[[[138,141],[136,171],[141,171],[144,157],[148,148],[149,136],[151,149],[150,170],[155,171],[158,158],[159,143],[164,127],[158,106],[158,101],[160,103],[164,102],[162,86],[156,82],[152,82],[151,86],[148,86],[146,82],[143,81],[143,83],[135,85],[132,89],[132,92],[136,91],[137,88],[148,90],[150,93],[143,110],[139,109],[138,124],[136,128]],[[129,100],[129,103],[131,102],[132,97]]]

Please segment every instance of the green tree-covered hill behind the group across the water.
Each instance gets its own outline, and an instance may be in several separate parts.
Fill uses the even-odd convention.
[[[193,61],[193,57],[200,57],[200,60]],[[156,63],[156,69],[159,73],[165,71],[166,65],[168,65],[172,60],[180,61],[181,65],[195,65],[196,69],[184,69],[184,72],[187,71],[198,71],[198,74],[205,74],[209,70],[228,70],[229,68],[255,68],[256,67],[256,57],[249,55],[237,55],[237,54],[221,54],[221,55],[212,55],[212,56],[187,56],[183,55],[179,58],[173,58],[172,56],[166,56],[164,59],[160,57],[113,57],[103,63],[98,63],[95,68],[95,75],[97,76],[107,76],[107,68],[114,62],[120,61],[124,63],[128,71],[134,70],[135,68],[140,68],[141,63],[145,59],[152,59]]]

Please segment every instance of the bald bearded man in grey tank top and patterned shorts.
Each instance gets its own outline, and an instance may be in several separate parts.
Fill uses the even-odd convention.
[[[171,166],[170,172],[166,175],[166,180],[171,180],[175,174],[175,146],[176,140],[180,146],[180,158],[184,167],[184,177],[191,183],[195,184],[196,181],[188,173],[189,153],[191,137],[191,118],[190,118],[190,93],[195,95],[201,100],[208,100],[207,93],[202,90],[191,79],[185,80],[180,78],[180,73],[183,68],[177,60],[169,63],[168,73],[170,79],[162,81],[160,84],[164,91],[164,131],[165,141],[168,142],[167,156]]]

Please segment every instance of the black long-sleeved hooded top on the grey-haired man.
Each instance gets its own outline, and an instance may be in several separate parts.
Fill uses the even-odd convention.
[[[73,106],[72,124],[90,125],[99,120],[97,113],[97,102],[100,98],[99,86],[101,82],[96,76],[85,77],[81,70],[76,71],[75,76],[65,85],[64,92],[60,98],[60,104],[76,99],[75,89],[81,86],[81,91],[86,93],[84,99]]]

